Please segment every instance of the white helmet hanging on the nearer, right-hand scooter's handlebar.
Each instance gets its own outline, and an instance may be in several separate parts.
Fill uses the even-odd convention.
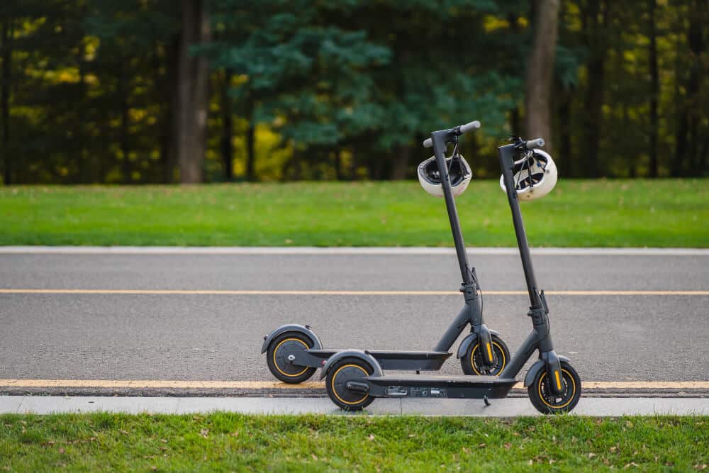
[[[515,161],[512,172],[518,199],[523,201],[541,199],[557,185],[557,165],[546,151],[527,152],[525,157]],[[500,187],[507,191],[504,176],[500,176]]]

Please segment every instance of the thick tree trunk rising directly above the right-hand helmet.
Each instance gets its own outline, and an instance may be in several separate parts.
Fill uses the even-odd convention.
[[[552,150],[552,79],[557,45],[559,0],[536,0],[534,39],[527,62],[525,133],[544,138]]]

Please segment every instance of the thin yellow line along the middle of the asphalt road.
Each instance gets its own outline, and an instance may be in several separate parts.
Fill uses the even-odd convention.
[[[0,294],[143,294],[176,296],[453,296],[459,291],[308,291],[220,289],[0,289]],[[523,296],[527,291],[484,291],[491,296]],[[545,291],[550,296],[709,296],[709,291]]]

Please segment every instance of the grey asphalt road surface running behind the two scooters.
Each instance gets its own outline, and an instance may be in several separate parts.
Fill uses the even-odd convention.
[[[484,290],[523,290],[519,258],[471,257]],[[536,255],[547,290],[709,289],[709,255]],[[453,255],[9,255],[3,289],[452,290]],[[709,296],[547,297],[582,379],[709,379]],[[514,351],[524,295],[484,296]],[[312,325],[325,347],[426,350],[462,296],[0,294],[0,379],[269,380],[263,335]],[[459,374],[457,360],[444,373]]]

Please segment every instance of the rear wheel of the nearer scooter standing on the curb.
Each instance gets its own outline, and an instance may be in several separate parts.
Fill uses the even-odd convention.
[[[328,389],[330,400],[344,411],[362,411],[372,404],[374,398],[369,394],[350,391],[346,384],[348,381],[364,379],[373,373],[374,369],[369,363],[359,358],[347,357],[338,360],[328,369],[328,377],[325,379],[325,388]]]

